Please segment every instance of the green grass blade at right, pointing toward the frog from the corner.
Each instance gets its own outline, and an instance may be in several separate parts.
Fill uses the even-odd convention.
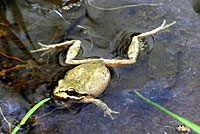
[[[142,98],[143,100],[145,100],[146,102],[148,102],[149,104],[155,106],[156,108],[160,109],[161,111],[167,113],[168,115],[172,116],[173,118],[177,119],[178,121],[182,122],[183,124],[185,124],[187,127],[191,128],[192,130],[194,130],[195,132],[197,132],[198,134],[200,134],[200,126],[168,111],[167,109],[161,107],[160,105],[150,101],[149,99],[145,98],[144,96],[142,96],[140,93],[138,93],[137,91],[135,91],[135,94],[137,94],[140,98]]]

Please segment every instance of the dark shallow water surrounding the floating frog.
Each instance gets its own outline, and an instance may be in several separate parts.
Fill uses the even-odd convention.
[[[75,110],[56,110],[39,118],[19,133],[111,133],[160,134],[176,133],[175,119],[142,101],[131,91],[138,89],[144,96],[168,110],[200,125],[200,16],[198,0],[110,0],[91,1],[99,7],[129,4],[163,3],[103,11],[81,1],[5,1],[0,6],[0,107],[14,128],[35,103],[47,97],[59,78],[68,70],[58,64],[58,52],[41,57],[30,53],[38,42],[52,44],[64,39],[82,41],[81,57],[113,58],[122,33],[146,32],[167,23],[176,25],[153,35],[155,46],[150,54],[142,54],[133,65],[113,68],[110,86],[100,96],[120,114],[115,120],[104,117],[93,104],[78,105]],[[193,8],[194,7],[194,8]],[[89,17],[87,17],[86,9]],[[71,24],[67,24],[59,11]],[[77,28],[82,25],[87,28]],[[3,55],[3,54],[6,55]],[[17,57],[19,59],[16,59]],[[21,60],[20,60],[21,59]],[[58,107],[50,101],[38,109],[40,117]],[[8,132],[0,118],[0,131]]]

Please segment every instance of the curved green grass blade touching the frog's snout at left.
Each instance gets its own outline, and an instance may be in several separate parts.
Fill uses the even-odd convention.
[[[45,98],[44,100],[41,100],[38,102],[34,107],[32,107],[28,113],[24,116],[24,118],[20,121],[20,123],[13,129],[12,134],[16,134],[19,128],[25,124],[25,122],[28,120],[28,118],[45,102],[49,101],[51,98]]]

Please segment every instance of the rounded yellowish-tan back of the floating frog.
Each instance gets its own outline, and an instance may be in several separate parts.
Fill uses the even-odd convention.
[[[78,93],[98,96],[109,83],[110,71],[103,61],[94,61],[73,68],[64,79],[67,86],[74,87]]]

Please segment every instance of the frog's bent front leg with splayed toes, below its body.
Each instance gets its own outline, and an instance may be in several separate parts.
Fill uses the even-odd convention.
[[[100,107],[104,111],[104,116],[109,115],[110,118],[113,120],[112,114],[119,114],[119,112],[111,110],[103,101],[94,98],[84,98],[81,100],[82,103],[94,103],[98,107]]]

